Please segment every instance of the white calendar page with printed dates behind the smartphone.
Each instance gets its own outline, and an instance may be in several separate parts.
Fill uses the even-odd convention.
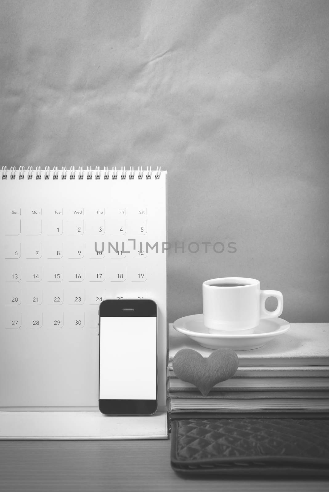
[[[115,298],[158,305],[165,405],[166,173],[12,174],[0,179],[0,406],[97,406],[98,306]]]

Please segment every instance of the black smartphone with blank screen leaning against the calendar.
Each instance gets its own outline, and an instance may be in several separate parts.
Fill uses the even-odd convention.
[[[150,299],[99,305],[99,410],[152,415],[158,406],[158,318]]]

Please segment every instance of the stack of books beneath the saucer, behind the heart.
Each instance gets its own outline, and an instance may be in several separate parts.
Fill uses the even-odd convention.
[[[203,357],[203,348],[169,325],[167,409],[171,420],[199,416],[246,414],[323,415],[329,410],[329,324],[292,324],[290,330],[261,348],[236,351],[239,367],[204,397],[180,380],[172,359],[182,348]]]

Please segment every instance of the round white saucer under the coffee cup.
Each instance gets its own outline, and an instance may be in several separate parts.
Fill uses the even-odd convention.
[[[184,318],[176,319],[173,327],[177,332],[183,333],[195,340],[205,348],[217,349],[222,347],[233,350],[251,350],[260,348],[274,337],[286,333],[290,323],[281,318],[262,319],[254,333],[249,335],[221,335],[212,334],[203,324],[203,314],[192,314]]]

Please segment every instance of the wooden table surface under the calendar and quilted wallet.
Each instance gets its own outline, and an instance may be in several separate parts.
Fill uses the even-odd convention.
[[[329,490],[326,480],[181,478],[170,440],[0,441],[1,492]]]

